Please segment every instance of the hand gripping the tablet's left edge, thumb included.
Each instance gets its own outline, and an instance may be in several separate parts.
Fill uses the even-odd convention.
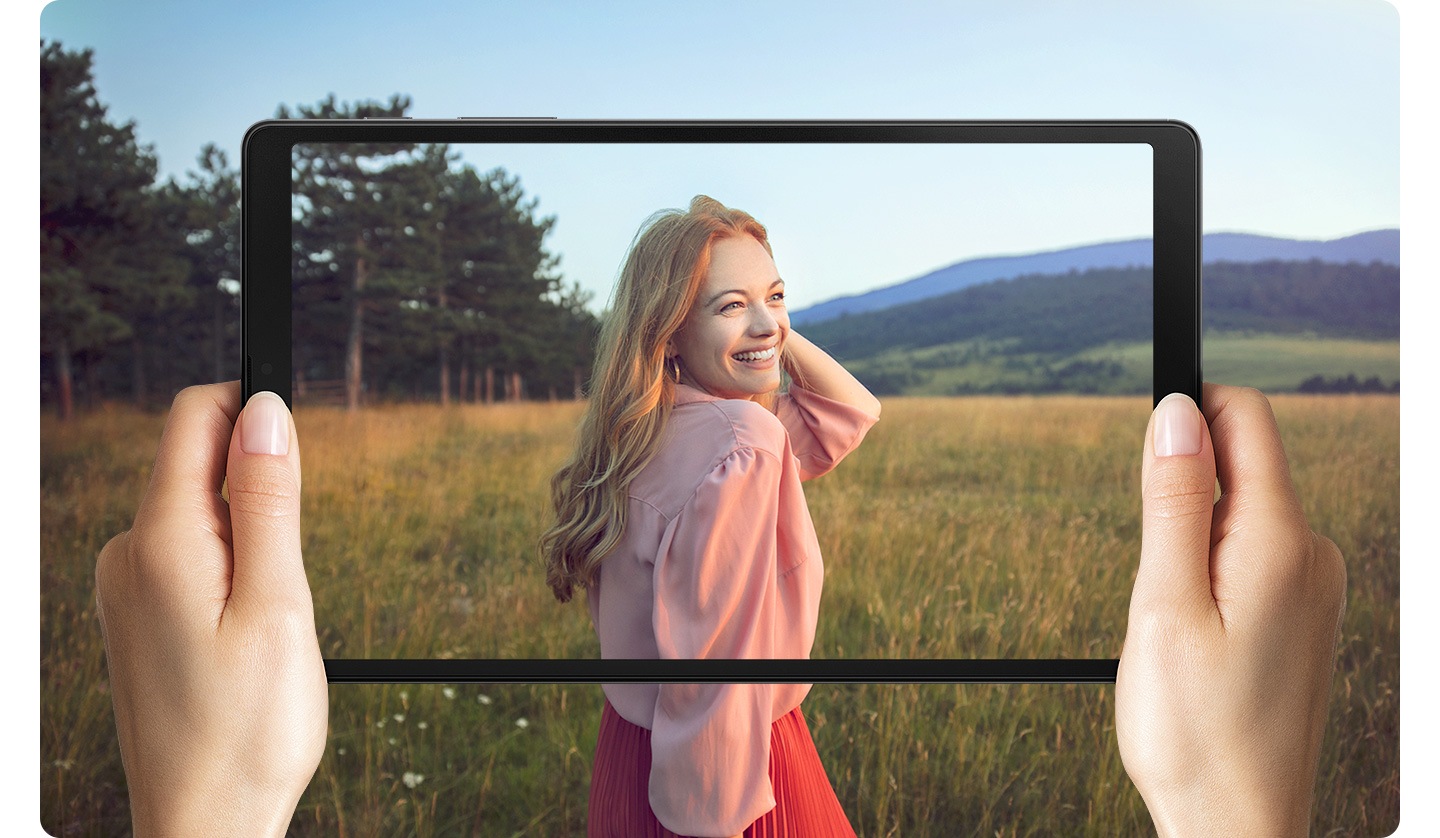
[[[229,500],[222,497],[222,484]],[[134,527],[95,566],[137,837],[282,835],[325,747],[285,403],[239,382],[171,407]]]

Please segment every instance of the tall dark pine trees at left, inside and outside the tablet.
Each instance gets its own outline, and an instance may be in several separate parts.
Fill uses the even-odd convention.
[[[206,145],[158,181],[134,121],[98,101],[92,58],[40,43],[40,397],[62,416],[240,371],[239,171]],[[276,117],[409,107],[330,96]],[[294,177],[297,400],[580,393],[598,323],[517,174],[446,145],[348,144],[297,147]]]

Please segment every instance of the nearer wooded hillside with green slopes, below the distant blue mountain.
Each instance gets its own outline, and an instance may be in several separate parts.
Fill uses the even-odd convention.
[[[1136,393],[1149,387],[1151,304],[1148,268],[1094,269],[988,282],[804,331],[881,395]],[[1224,359],[1205,371],[1228,382],[1398,380],[1394,266],[1208,265],[1202,320],[1205,357]],[[1250,366],[1246,347],[1264,347]]]

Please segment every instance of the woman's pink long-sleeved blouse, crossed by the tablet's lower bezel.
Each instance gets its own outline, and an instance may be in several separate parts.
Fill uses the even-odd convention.
[[[678,386],[625,536],[588,600],[602,658],[808,658],[824,566],[801,481],[876,418],[793,387],[776,413]],[[651,730],[649,803],[681,835],[734,835],[775,806],[770,723],[808,684],[605,684]]]

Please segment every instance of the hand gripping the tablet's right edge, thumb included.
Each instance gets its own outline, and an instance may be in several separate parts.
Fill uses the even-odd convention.
[[[1161,835],[1305,835],[1345,563],[1306,523],[1269,400],[1204,400],[1208,428],[1171,395],[1146,433],[1120,759]]]

